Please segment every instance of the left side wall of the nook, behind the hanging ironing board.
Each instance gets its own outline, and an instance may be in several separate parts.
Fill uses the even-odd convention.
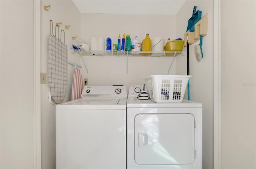
[[[51,5],[49,11],[44,10],[44,5],[48,6],[49,4]],[[80,13],[78,12],[76,6],[71,0],[41,0],[41,72],[48,72],[48,36],[50,34],[50,20],[53,21],[54,32],[56,22],[62,22],[60,30],[63,29],[65,31],[65,44],[68,46],[68,61],[81,65],[80,57],[70,53],[70,48],[74,41],[72,40],[72,36],[80,36]],[[65,29],[65,25],[70,25],[70,28],[68,30]],[[64,102],[70,100],[73,70],[74,66],[68,64],[68,89],[66,92]],[[42,84],[42,168],[54,169],[56,167],[55,105],[49,103],[48,91],[48,84]]]

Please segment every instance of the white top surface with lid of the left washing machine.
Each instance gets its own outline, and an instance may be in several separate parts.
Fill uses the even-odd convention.
[[[126,109],[126,100],[119,98],[81,98],[56,105],[56,109]]]

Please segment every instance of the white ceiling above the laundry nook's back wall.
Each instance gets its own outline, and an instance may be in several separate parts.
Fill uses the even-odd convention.
[[[73,0],[84,14],[176,15],[186,0]]]

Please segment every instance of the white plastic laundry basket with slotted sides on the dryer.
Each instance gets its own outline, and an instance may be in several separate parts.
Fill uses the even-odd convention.
[[[152,75],[146,85],[150,99],[156,103],[181,103],[192,76]]]

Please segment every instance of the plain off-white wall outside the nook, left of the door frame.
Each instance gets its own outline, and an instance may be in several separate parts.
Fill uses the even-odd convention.
[[[1,0],[0,168],[34,168],[32,0]]]

